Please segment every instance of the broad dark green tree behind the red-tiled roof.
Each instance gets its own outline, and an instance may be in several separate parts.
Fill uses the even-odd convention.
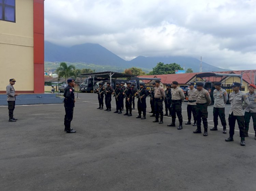
[[[147,75],[174,74],[175,70],[183,70],[183,68],[176,63],[163,64],[162,62],[159,62]]]

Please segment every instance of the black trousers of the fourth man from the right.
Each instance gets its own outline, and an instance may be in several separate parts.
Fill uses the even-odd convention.
[[[203,127],[208,128],[208,111],[207,111],[207,103],[197,103],[197,128],[201,129],[201,121],[203,121]]]

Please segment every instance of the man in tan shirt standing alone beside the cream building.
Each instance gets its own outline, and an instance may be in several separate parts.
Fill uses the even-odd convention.
[[[15,89],[13,87],[16,80],[10,79],[9,82],[10,82],[10,84],[8,86],[6,86],[6,95],[7,95],[8,110],[9,110],[9,122],[15,122],[18,119],[13,117],[13,111],[15,108],[16,96],[19,94],[15,93]]]

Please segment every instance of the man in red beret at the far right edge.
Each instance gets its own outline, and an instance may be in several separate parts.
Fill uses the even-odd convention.
[[[251,116],[253,118],[253,128],[255,131],[256,140],[256,93],[255,93],[256,86],[254,84],[249,84],[249,92],[246,93],[247,98],[250,102],[250,106],[245,108],[244,114],[244,123],[245,123],[245,137],[248,137],[248,130],[249,130],[249,123]]]

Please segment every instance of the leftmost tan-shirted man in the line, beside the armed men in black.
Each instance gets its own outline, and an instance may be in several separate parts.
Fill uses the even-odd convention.
[[[156,80],[155,87],[155,112],[156,119],[153,122],[159,122],[159,124],[163,123],[163,100],[165,100],[165,90],[162,86],[160,86],[160,80]],[[158,120],[160,114],[160,121]]]

